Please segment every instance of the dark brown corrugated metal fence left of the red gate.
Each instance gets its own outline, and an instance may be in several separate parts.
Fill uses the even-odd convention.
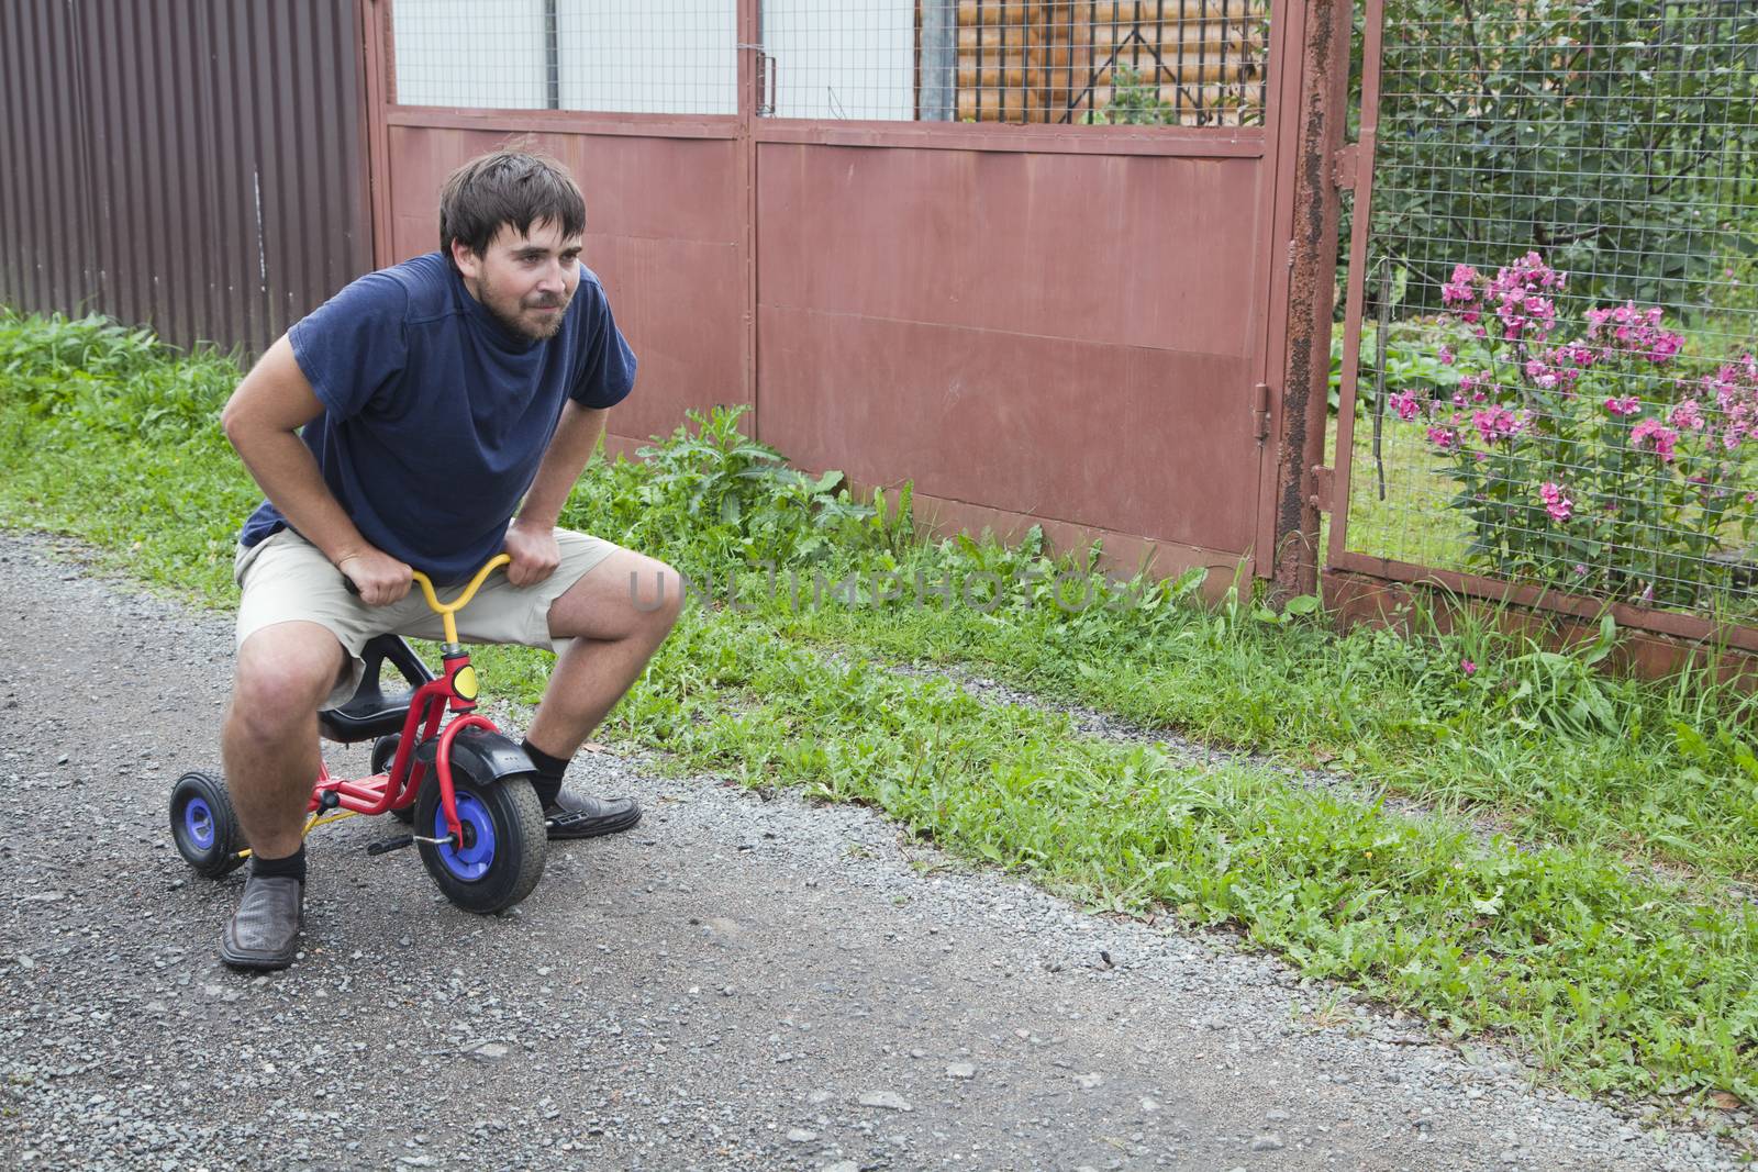
[[[267,346],[373,260],[355,0],[0,5],[0,300]]]

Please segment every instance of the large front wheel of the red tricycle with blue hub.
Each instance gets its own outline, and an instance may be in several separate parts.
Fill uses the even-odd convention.
[[[531,894],[543,877],[548,849],[543,807],[529,778],[480,782],[457,757],[452,759],[452,787],[459,821],[466,824],[464,849],[415,843],[422,863],[445,898],[466,912],[505,912]],[[415,796],[415,833],[432,838],[447,833],[438,777],[424,780]]]

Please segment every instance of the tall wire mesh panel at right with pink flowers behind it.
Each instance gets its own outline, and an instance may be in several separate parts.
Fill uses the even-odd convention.
[[[1758,613],[1758,0],[1392,0],[1352,552]]]

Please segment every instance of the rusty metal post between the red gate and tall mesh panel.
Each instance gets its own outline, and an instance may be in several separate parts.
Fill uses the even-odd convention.
[[[1333,167],[1348,112],[1352,0],[1306,0],[1301,46],[1299,125],[1276,153],[1294,169],[1294,223],[1289,237],[1289,348],[1276,434],[1276,520],[1273,589],[1318,589],[1318,510],[1311,469],[1324,464],[1326,401],[1331,378],[1331,313],[1336,288],[1336,228],[1341,202]]]

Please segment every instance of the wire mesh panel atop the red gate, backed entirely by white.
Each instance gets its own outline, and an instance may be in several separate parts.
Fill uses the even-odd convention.
[[[737,0],[396,0],[399,105],[735,114]]]

